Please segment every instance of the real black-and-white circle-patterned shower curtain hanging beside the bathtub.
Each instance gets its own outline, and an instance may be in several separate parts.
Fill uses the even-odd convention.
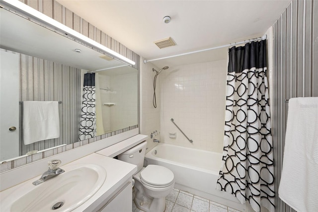
[[[229,50],[223,161],[217,190],[275,211],[266,40]]]

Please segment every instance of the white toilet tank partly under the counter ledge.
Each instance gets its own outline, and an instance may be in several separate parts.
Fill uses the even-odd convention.
[[[146,145],[147,141],[143,141],[138,145],[128,149],[127,151],[124,151],[123,153],[119,154],[117,158],[127,163],[137,165],[137,172],[139,172],[144,166]]]

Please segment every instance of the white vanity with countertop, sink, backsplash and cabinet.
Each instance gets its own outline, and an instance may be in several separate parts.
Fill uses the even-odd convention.
[[[131,212],[132,175],[137,166],[113,157],[147,138],[136,135],[85,156],[76,152],[79,149],[76,148],[68,151],[68,156],[61,153],[3,172],[0,174],[0,211]],[[32,182],[41,174],[31,179],[25,177],[32,172],[45,172],[47,168],[39,167],[47,161],[61,159],[63,162],[74,155],[79,158],[60,167],[64,173],[37,186]]]

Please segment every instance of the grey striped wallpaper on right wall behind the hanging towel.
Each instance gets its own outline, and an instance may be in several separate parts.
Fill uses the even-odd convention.
[[[275,186],[281,178],[288,103],[318,96],[318,1],[292,0],[274,24]],[[291,185],[292,186],[292,185]],[[276,195],[277,212],[294,212]]]

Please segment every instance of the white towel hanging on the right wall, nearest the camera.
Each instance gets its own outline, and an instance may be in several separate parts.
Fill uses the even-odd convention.
[[[292,98],[279,198],[298,212],[318,210],[318,97]]]

